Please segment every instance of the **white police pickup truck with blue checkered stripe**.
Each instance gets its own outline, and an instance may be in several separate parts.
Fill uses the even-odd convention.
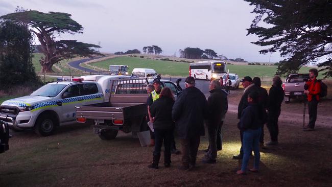
[[[49,83],[29,96],[3,102],[0,120],[14,130],[33,128],[37,134],[49,136],[57,126],[76,123],[75,106],[109,101],[112,80],[128,78],[97,75]]]

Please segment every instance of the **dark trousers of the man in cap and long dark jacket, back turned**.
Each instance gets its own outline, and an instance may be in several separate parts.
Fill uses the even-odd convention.
[[[196,164],[197,151],[200,141],[201,136],[199,134],[186,139],[180,139],[183,166],[187,167],[189,166],[189,163],[191,165]]]

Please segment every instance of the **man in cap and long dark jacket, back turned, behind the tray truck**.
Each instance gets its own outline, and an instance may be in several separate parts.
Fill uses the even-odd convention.
[[[172,110],[172,118],[180,138],[182,167],[195,167],[200,136],[204,135],[204,119],[207,116],[207,101],[204,94],[195,87],[194,77],[185,79],[185,89],[178,96]]]

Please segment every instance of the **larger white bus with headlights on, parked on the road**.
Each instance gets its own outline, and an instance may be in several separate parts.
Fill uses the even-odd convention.
[[[195,79],[220,79],[226,73],[226,63],[224,61],[200,61],[189,65],[189,76]]]

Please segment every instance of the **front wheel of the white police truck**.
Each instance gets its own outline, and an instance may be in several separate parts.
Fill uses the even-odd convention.
[[[35,132],[41,136],[50,136],[55,130],[55,120],[52,116],[41,115],[36,121]]]

